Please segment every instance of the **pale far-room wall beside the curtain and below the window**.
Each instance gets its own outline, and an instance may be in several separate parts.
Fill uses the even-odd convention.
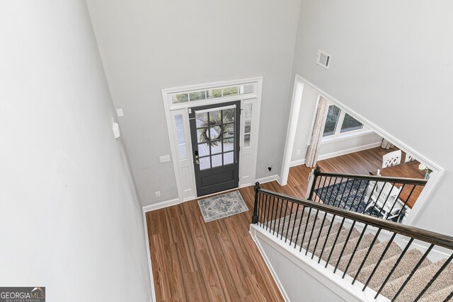
[[[304,92],[302,93],[299,120],[297,121],[296,138],[294,139],[294,147],[292,149],[292,165],[300,164],[305,160],[306,144],[309,140],[317,99],[318,93],[305,85]],[[382,138],[378,134],[370,132],[354,137],[343,137],[334,141],[323,141],[319,149],[319,159],[367,149],[370,146],[376,146],[381,140]],[[297,150],[300,150],[299,155],[297,155]]]

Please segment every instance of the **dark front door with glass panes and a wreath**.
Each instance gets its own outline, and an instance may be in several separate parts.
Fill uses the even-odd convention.
[[[197,196],[239,187],[241,101],[189,112]]]

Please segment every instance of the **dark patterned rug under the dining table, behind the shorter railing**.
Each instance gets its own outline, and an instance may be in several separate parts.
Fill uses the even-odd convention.
[[[319,187],[314,192],[321,198],[323,204],[364,214],[369,200],[369,197],[366,196],[367,186],[368,180],[362,180],[362,182],[360,180],[348,180],[328,187]],[[365,214],[378,217],[379,211],[370,208]],[[403,208],[398,222],[401,222],[404,216],[406,216],[406,207]],[[396,221],[397,218],[389,219],[389,221]]]

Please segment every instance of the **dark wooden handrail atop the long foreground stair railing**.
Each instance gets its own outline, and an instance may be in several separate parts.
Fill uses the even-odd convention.
[[[333,174],[333,173],[326,173],[326,174]],[[270,196],[278,197],[280,199],[285,199],[289,202],[294,202],[296,204],[302,204],[304,206],[311,207],[313,209],[319,209],[322,211],[326,211],[330,214],[335,214],[335,215],[338,215],[341,217],[345,217],[346,219],[352,219],[354,221],[367,223],[369,226],[375,226],[377,228],[382,228],[384,230],[398,233],[398,234],[401,234],[404,236],[408,236],[410,238],[422,240],[426,243],[441,246],[442,248],[449,248],[450,250],[453,250],[453,237],[447,236],[447,235],[444,235],[441,233],[427,231],[422,228],[415,228],[414,226],[405,226],[405,225],[402,225],[401,223],[396,223],[393,221],[379,219],[379,218],[376,218],[373,216],[367,216],[365,214],[355,213],[353,211],[348,211],[345,209],[340,209],[338,207],[328,206],[326,204],[320,204],[318,202],[311,202],[310,200],[306,200],[306,199],[299,199],[296,197],[289,196],[287,194],[282,194],[282,193],[277,193],[277,192],[261,189],[259,186],[256,187],[256,191],[261,192],[263,194],[268,194]]]

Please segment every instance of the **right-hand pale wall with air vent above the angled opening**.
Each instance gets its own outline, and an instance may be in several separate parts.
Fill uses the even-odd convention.
[[[453,2],[302,0],[294,74],[447,170],[415,225],[453,235]],[[316,52],[332,55],[330,69]]]

